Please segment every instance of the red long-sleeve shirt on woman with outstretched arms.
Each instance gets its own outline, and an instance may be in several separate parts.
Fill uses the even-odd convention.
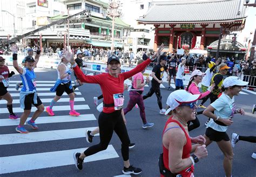
[[[134,74],[138,72],[142,72],[147,65],[151,63],[150,59],[145,60],[145,62],[137,65],[131,71],[119,73],[118,77],[112,77],[109,73],[102,73],[96,76],[86,76],[79,69],[78,66],[74,67],[73,70],[77,75],[77,78],[82,83],[92,83],[92,84],[99,84],[100,88],[102,89],[102,94],[104,98],[105,104],[113,104],[113,94],[123,93],[124,92],[124,80],[132,77]],[[114,107],[103,107],[104,113],[112,113],[114,112]]]

